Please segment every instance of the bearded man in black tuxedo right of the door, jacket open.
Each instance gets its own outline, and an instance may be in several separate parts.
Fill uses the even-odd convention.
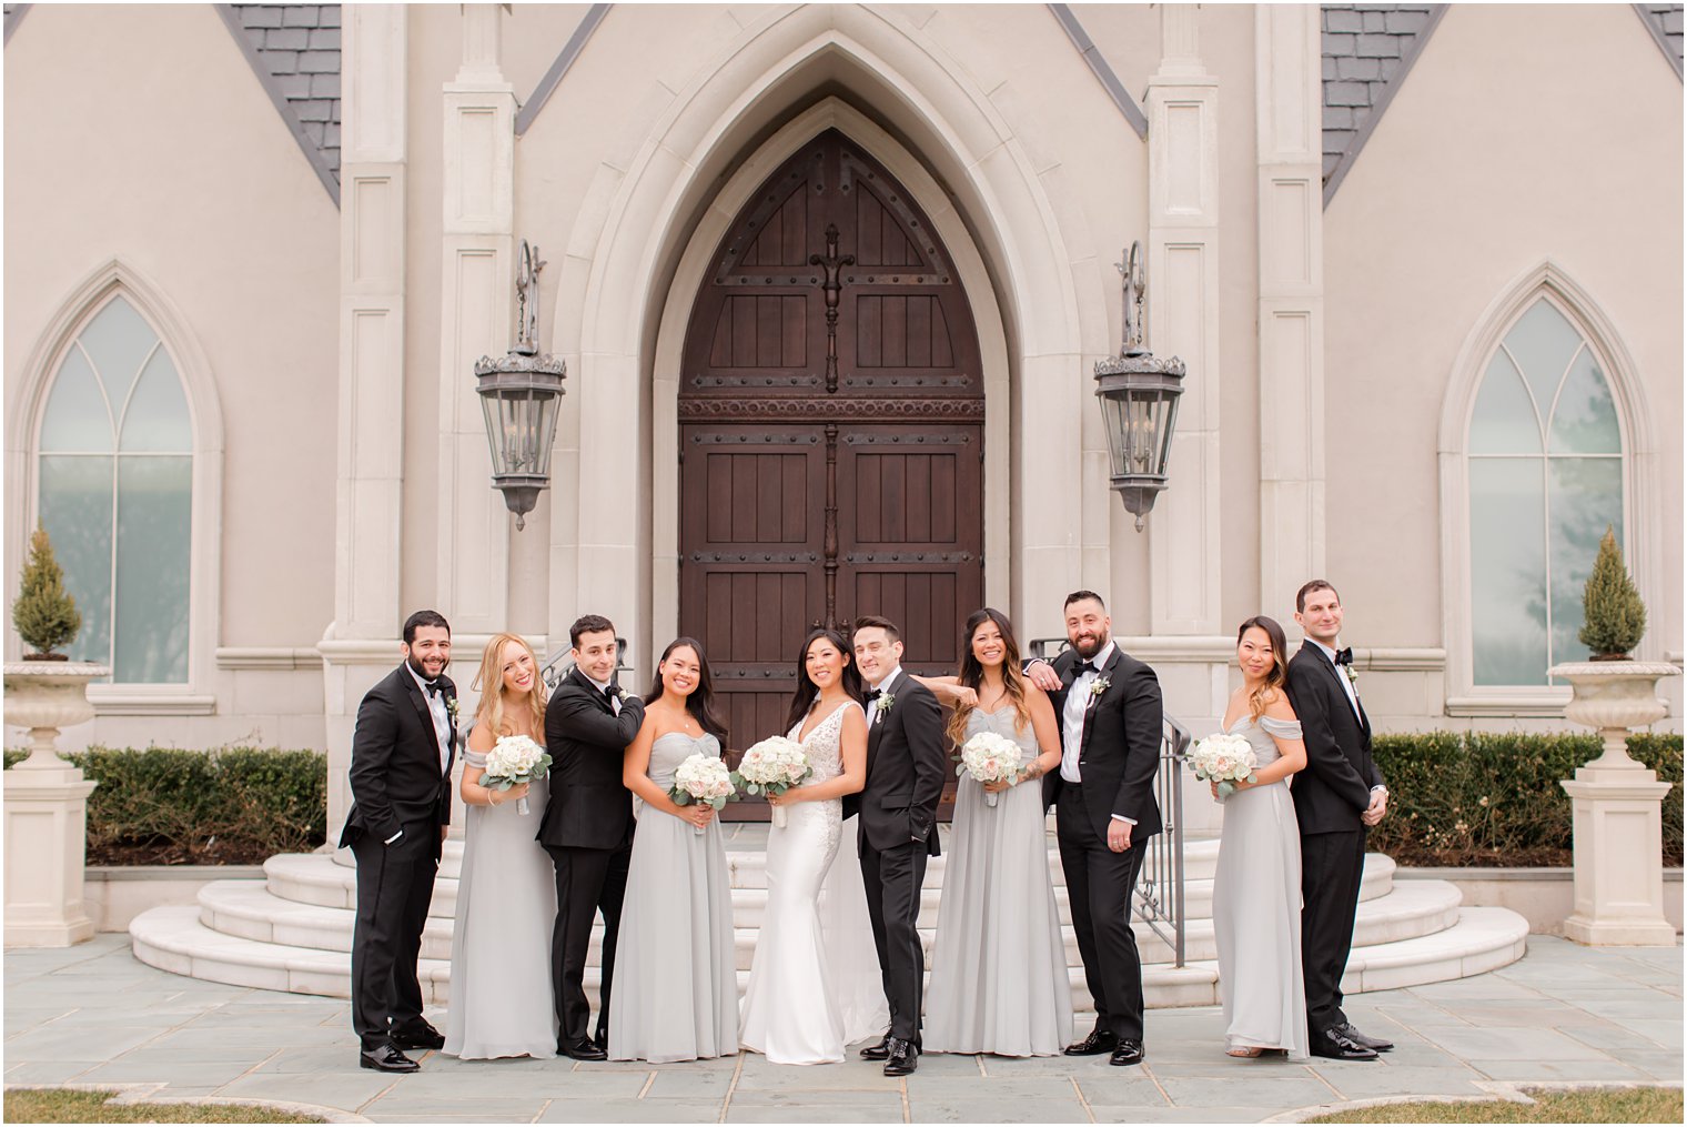
[[[1059,864],[1071,899],[1083,977],[1095,995],[1095,1029],[1068,1056],[1108,1053],[1110,1065],[1140,1065],[1142,958],[1130,930],[1130,896],[1147,840],[1161,832],[1159,678],[1112,638],[1113,619],[1093,590],[1066,596],[1066,641],[1053,665],[1026,673],[1053,695],[1061,764],[1044,779],[1054,803]]]

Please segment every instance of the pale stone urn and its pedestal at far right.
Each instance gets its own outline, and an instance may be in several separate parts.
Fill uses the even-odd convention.
[[[1663,918],[1663,796],[1670,783],[1628,754],[1628,731],[1668,709],[1657,683],[1680,673],[1663,661],[1572,661],[1549,670],[1571,683],[1564,715],[1596,729],[1603,754],[1560,786],[1574,810],[1576,906],[1564,935],[1577,943],[1670,946]]]

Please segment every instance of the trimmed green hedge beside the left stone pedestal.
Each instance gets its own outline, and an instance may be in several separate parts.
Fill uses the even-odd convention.
[[[7,751],[5,766],[24,758]],[[88,862],[260,864],[327,837],[327,756],[277,747],[89,747]]]

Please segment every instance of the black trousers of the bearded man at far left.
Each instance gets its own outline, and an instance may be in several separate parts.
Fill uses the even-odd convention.
[[[417,958],[434,899],[437,822],[407,822],[391,845],[371,833],[351,844],[358,860],[358,918],[351,931],[351,1027],[375,1049],[422,1017]]]

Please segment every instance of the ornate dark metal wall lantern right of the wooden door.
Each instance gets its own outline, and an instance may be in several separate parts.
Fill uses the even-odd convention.
[[[1154,499],[1166,489],[1184,364],[1176,356],[1159,359],[1144,344],[1147,278],[1142,243],[1132,243],[1117,265],[1124,275],[1124,342],[1118,356],[1097,361],[1095,395],[1102,400],[1102,420],[1107,423],[1112,486],[1137,518],[1137,531],[1142,531]]]

